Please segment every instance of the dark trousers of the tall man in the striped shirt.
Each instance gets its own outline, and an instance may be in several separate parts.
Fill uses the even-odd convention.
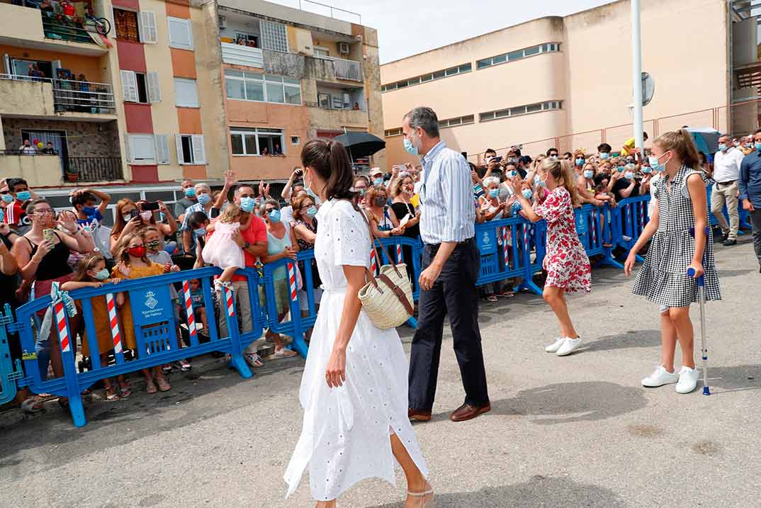
[[[434,257],[431,248],[425,246],[424,270]],[[478,326],[476,280],[479,270],[479,252],[476,241],[471,238],[470,242],[454,249],[433,287],[429,291],[420,291],[418,329],[412,339],[409,359],[409,407],[412,409],[431,411],[433,407],[441,335],[447,313],[454,335],[454,354],[463,379],[465,402],[474,406],[489,403]]]

